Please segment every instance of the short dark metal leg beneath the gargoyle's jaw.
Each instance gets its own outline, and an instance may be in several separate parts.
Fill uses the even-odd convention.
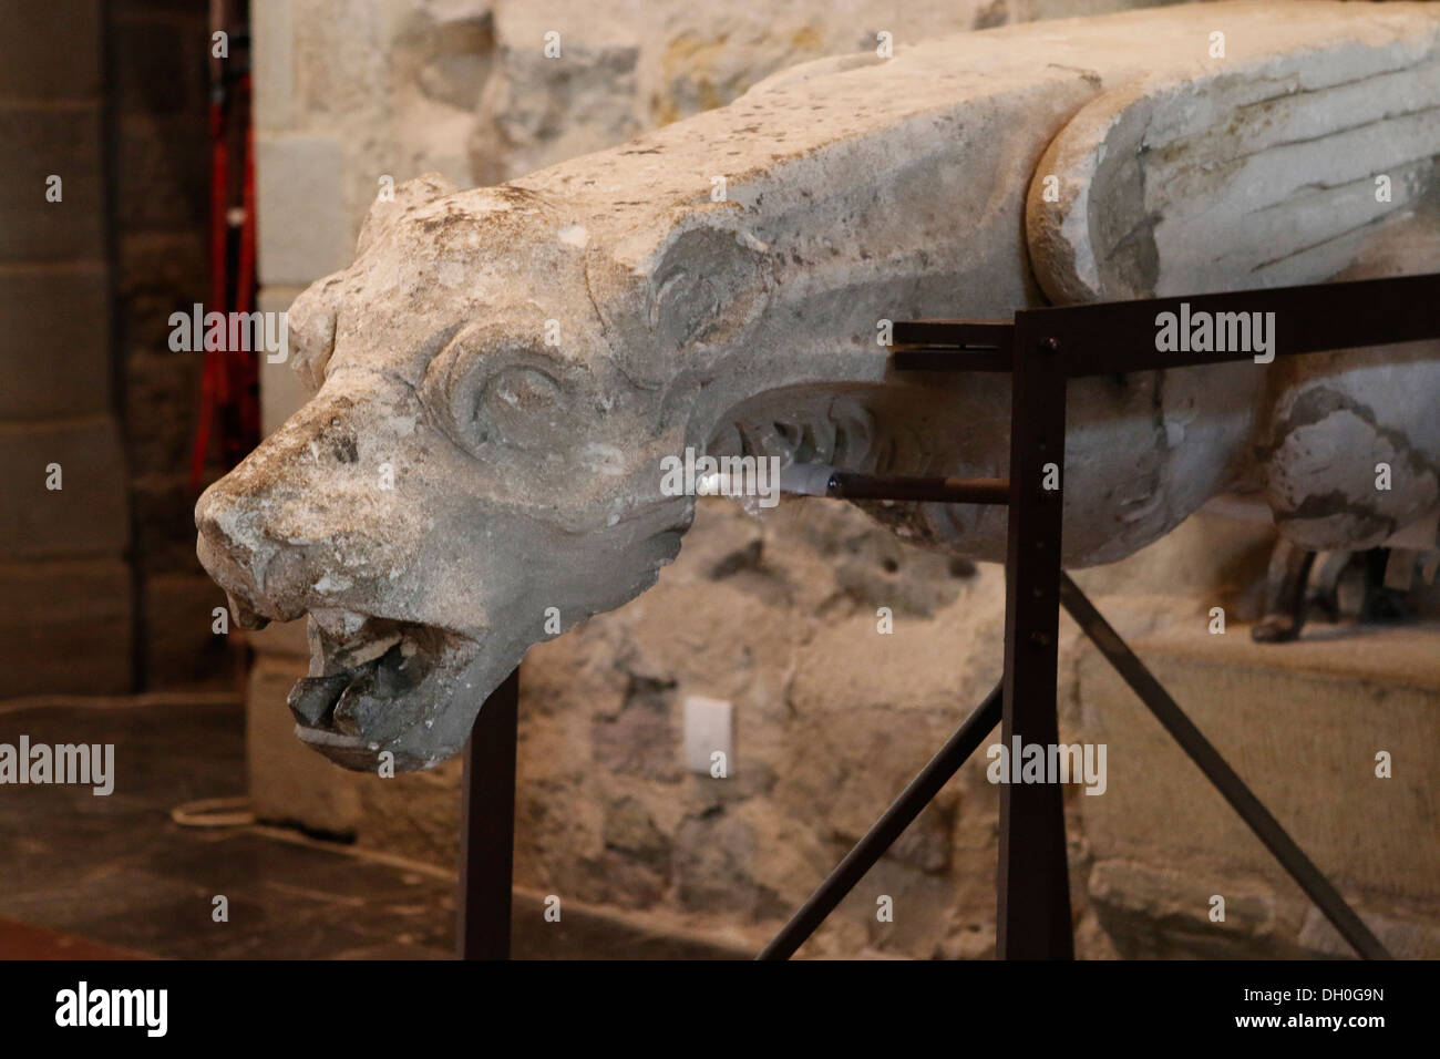
[[[465,746],[455,945],[461,960],[510,958],[520,670],[485,699]]]

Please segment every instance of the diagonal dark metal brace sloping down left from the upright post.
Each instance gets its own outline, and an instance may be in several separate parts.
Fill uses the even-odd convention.
[[[835,911],[835,906],[845,899],[845,895],[854,889],[865,872],[874,867],[884,852],[904,833],[904,828],[920,816],[920,810],[930,804],[940,788],[979,748],[985,736],[999,723],[999,716],[1001,689],[996,686],[756,960],[789,960],[795,955],[795,949],[805,944],[805,939],[815,932],[825,916]]]

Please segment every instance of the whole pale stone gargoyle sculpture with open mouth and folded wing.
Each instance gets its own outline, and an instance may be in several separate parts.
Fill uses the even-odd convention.
[[[308,612],[304,741],[428,768],[547,614],[675,558],[667,457],[1004,475],[1008,380],[896,373],[878,321],[1433,271],[1437,156],[1440,4],[1217,3],[819,61],[498,187],[420,177],[291,308],[312,396],[200,499],[199,555],[240,624]],[[1237,488],[1310,549],[1427,517],[1440,353],[1297,360],[1076,380],[1064,563]],[[1004,558],[1004,511],[873,514]]]

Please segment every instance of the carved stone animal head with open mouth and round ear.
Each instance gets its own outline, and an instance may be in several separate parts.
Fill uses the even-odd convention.
[[[530,192],[451,192],[376,203],[295,301],[312,396],[196,507],[239,624],[308,612],[298,735],[354,769],[452,755],[531,644],[654,584],[694,506],[661,458],[759,288],[723,226],[598,248]]]

